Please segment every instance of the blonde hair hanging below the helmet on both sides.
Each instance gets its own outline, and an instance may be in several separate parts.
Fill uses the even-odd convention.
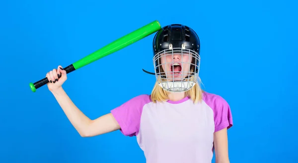
[[[151,100],[153,103],[156,102],[165,102],[168,100],[169,92],[165,91],[158,85],[158,82],[155,82],[155,85],[151,92]],[[195,84],[190,90],[186,91],[186,95],[194,102],[198,103],[202,100],[203,90],[198,83]]]

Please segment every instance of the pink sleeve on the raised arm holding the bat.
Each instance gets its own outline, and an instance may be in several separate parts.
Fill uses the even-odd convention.
[[[125,136],[136,136],[139,133],[143,107],[148,103],[150,96],[140,95],[111,110]]]

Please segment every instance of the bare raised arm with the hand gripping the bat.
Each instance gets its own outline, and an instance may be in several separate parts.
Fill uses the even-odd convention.
[[[49,90],[56,98],[74,128],[82,137],[96,136],[120,129],[118,122],[111,113],[102,115],[95,120],[91,120],[74,105],[70,97],[62,88],[62,84],[67,80],[67,74],[61,66],[58,66],[58,69],[53,69],[48,72],[46,76],[50,81],[50,83],[47,84]]]

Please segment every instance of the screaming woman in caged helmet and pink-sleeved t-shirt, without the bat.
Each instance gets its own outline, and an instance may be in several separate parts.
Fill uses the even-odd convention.
[[[85,116],[63,90],[61,66],[47,73],[49,90],[83,137],[115,130],[136,136],[147,163],[229,163],[229,105],[220,96],[201,90],[200,41],[191,28],[172,24],[153,40],[155,86],[95,120]]]

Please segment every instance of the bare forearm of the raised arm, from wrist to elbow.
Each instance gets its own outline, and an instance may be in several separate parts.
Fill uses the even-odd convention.
[[[84,137],[91,120],[74,105],[62,87],[52,93],[74,128]]]

